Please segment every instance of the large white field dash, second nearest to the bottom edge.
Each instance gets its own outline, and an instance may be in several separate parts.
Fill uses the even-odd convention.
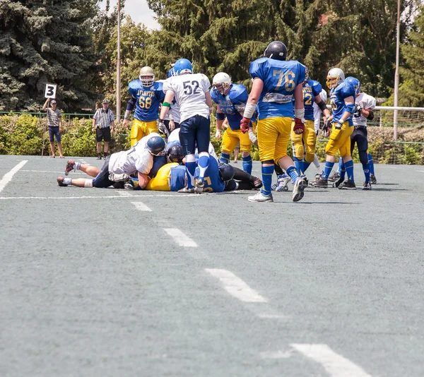
[[[218,277],[224,289],[236,299],[243,302],[268,302],[267,299],[232,272],[220,268],[205,268],[205,270],[213,277]]]

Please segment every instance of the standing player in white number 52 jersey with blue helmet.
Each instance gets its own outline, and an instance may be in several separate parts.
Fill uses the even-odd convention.
[[[193,73],[192,63],[187,59],[175,62],[172,76],[163,83],[165,100],[160,111],[158,128],[163,128],[163,119],[171,107],[172,100],[179,104],[181,122],[179,124],[179,141],[186,157],[187,187],[182,192],[201,193],[204,188],[204,176],[209,164],[209,142],[211,140],[211,120],[213,110],[209,79],[201,73]],[[196,158],[199,150],[199,178],[194,182]]]

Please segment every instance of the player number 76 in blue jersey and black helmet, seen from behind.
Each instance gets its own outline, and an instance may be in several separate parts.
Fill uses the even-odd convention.
[[[285,61],[287,47],[279,41],[271,42],[266,47],[264,56],[250,64],[249,73],[254,81],[240,123],[242,131],[248,131],[250,119],[258,107],[257,136],[264,186],[257,195],[249,196],[248,200],[273,201],[271,181],[275,162],[285,169],[293,180],[293,201],[300,201],[307,184],[305,179],[299,176],[293,160],[287,155],[287,145],[293,119],[293,97],[295,98],[293,129],[295,133],[305,131],[302,92],[305,66],[298,61]]]

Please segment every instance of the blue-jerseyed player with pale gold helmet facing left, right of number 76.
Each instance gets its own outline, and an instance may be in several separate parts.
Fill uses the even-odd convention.
[[[326,162],[324,173],[315,179],[311,186],[328,186],[329,175],[336,162],[336,153],[343,158],[348,180],[340,184],[338,188],[355,190],[353,179],[353,161],[351,157],[351,135],[353,133],[352,116],[355,113],[355,88],[345,81],[344,72],[340,68],[331,68],[327,74],[326,84],[330,91],[331,108],[333,114],[330,117],[331,134],[325,147]]]

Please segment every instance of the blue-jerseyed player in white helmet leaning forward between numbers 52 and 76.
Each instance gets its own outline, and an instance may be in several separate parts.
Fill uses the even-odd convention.
[[[218,104],[216,109],[216,135],[221,138],[221,130],[225,117],[228,121],[228,128],[223,135],[221,145],[220,162],[229,163],[231,151],[240,143],[242,151],[243,170],[252,173],[252,157],[250,155],[251,142],[255,143],[253,128],[249,128],[249,133],[242,133],[240,121],[245,111],[247,90],[245,85],[233,84],[230,76],[225,72],[219,72],[213,76],[211,97],[213,102]]]

